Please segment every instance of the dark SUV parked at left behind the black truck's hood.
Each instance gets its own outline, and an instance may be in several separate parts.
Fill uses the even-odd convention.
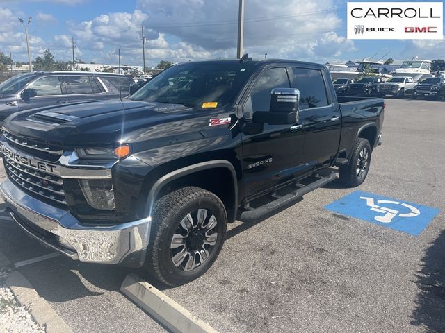
[[[0,84],[0,123],[15,112],[49,105],[102,101],[127,96],[129,76],[54,71],[19,74]]]

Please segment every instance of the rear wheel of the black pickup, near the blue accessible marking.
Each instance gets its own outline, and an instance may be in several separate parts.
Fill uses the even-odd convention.
[[[370,165],[371,145],[368,140],[359,137],[355,141],[354,150],[348,165],[339,167],[340,181],[350,187],[362,184],[366,176],[368,176]]]

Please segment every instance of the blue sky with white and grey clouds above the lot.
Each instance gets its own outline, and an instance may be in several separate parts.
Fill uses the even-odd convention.
[[[419,1],[420,2],[420,1]],[[0,0],[0,52],[26,62],[50,49],[56,60],[146,65],[235,58],[238,0]],[[346,62],[373,57],[445,58],[445,40],[348,40],[346,1],[245,0],[244,53],[254,58]]]

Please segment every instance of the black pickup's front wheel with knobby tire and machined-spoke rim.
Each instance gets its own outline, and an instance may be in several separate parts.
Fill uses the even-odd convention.
[[[144,268],[161,284],[179,286],[199,278],[215,262],[223,248],[227,213],[215,194],[183,187],[156,200],[152,223]]]

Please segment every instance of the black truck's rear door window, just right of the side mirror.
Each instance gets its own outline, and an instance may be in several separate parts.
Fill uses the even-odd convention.
[[[318,69],[292,67],[291,87],[300,90],[300,109],[327,106],[323,75]]]

